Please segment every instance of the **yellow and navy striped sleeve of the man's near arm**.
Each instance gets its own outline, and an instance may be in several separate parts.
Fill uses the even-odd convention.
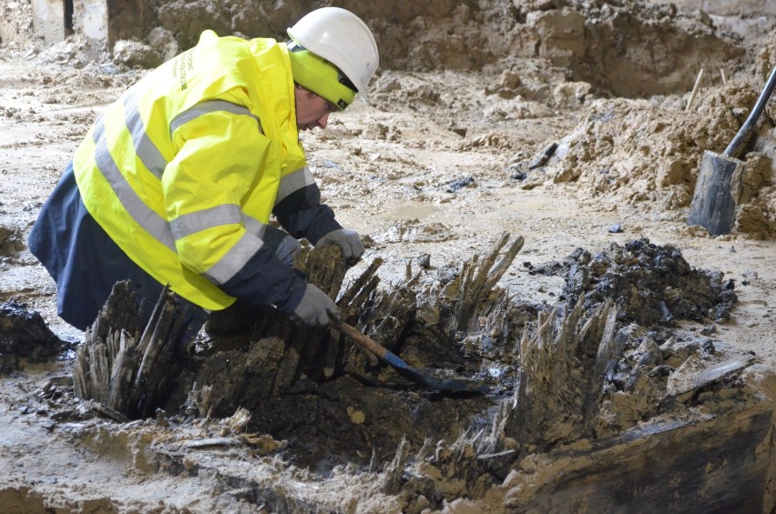
[[[231,296],[291,312],[305,281],[264,244],[266,226],[246,222],[240,207],[271,173],[265,166],[271,144],[258,119],[229,107],[189,115],[172,130],[178,152],[162,189],[181,265]]]

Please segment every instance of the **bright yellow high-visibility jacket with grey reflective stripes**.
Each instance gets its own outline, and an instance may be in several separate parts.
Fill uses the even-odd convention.
[[[204,32],[89,130],[73,159],[87,211],[132,261],[192,303],[220,309],[250,297],[267,278],[249,268],[267,251],[261,237],[273,209],[313,244],[341,227],[319,205],[305,165],[293,87],[285,45]],[[301,280],[266,255],[258,260]],[[256,283],[229,287],[246,280]],[[249,299],[278,297],[265,293]]]

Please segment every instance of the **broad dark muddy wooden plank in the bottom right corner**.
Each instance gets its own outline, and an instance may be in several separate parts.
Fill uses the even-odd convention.
[[[504,507],[519,512],[548,512],[558,505],[577,512],[767,512],[763,492],[771,452],[758,448],[770,438],[771,416],[771,408],[761,402],[705,421],[634,428],[585,451],[551,453],[542,480],[515,475],[505,481],[505,489],[516,485],[507,492]]]

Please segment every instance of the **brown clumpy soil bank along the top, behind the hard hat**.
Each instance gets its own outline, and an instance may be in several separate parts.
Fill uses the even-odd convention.
[[[154,15],[148,27],[179,47],[194,45],[206,28],[282,39],[288,25],[323,4],[159,1],[149,9]],[[616,96],[683,92],[701,66],[724,66],[743,51],[735,38],[715,33],[708,15],[684,14],[674,5],[577,0],[337,4],[373,28],[383,69],[479,71],[503,68],[514,58],[542,57],[567,67],[570,78]]]

